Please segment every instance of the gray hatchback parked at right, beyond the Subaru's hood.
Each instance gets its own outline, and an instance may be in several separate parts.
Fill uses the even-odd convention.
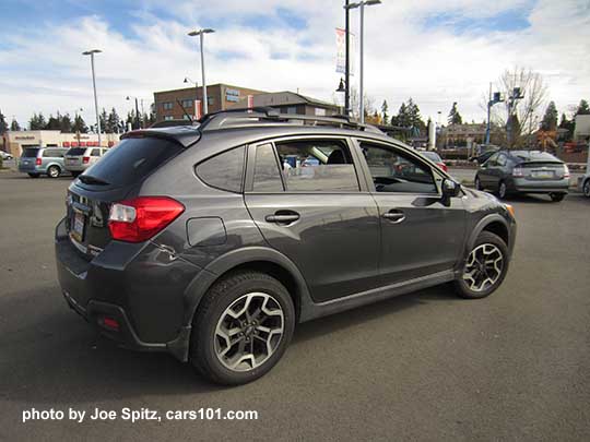
[[[569,189],[569,169],[559,158],[540,151],[500,151],[480,166],[475,189],[500,199],[515,193],[544,193],[562,201]]]

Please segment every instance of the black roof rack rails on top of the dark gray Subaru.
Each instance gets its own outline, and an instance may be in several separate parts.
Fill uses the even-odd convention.
[[[302,124],[308,126],[331,126],[342,129],[355,129],[367,132],[384,133],[374,126],[359,123],[343,115],[315,117],[295,114],[281,114],[279,109],[272,107],[220,110],[217,112],[208,114],[199,120],[200,129],[205,131],[291,122],[300,122]]]

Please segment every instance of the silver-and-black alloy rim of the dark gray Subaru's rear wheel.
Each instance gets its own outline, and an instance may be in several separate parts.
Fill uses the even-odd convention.
[[[225,309],[217,322],[215,355],[229,370],[252,370],[274,354],[284,326],[283,309],[271,295],[244,295]]]

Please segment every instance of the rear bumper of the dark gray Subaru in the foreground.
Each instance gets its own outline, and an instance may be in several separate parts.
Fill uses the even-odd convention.
[[[71,243],[66,218],[59,223],[56,264],[67,303],[122,347],[187,360],[190,324],[182,323],[184,291],[199,267],[174,260],[162,268],[154,260],[164,258],[151,242],[111,244],[87,261]]]

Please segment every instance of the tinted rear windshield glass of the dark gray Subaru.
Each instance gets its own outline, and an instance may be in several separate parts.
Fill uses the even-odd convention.
[[[128,186],[140,181],[181,151],[182,146],[166,140],[127,139],[83,175],[113,187]]]

